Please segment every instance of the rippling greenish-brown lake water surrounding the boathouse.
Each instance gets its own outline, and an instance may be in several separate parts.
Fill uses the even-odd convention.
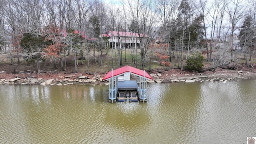
[[[0,86],[0,143],[246,143],[256,80],[148,84],[148,102],[108,86]]]

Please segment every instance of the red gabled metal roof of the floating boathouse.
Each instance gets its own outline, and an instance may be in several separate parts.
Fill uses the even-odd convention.
[[[130,74],[134,74],[140,77],[144,77],[144,70],[140,70],[138,68],[134,68],[132,66],[124,66],[122,68],[118,68],[116,70],[113,70],[113,78],[116,76],[120,76],[124,73],[130,73]],[[106,76],[103,78],[103,80],[108,80],[112,77],[112,71],[108,72],[108,74],[106,74]],[[151,76],[145,72],[145,78],[146,79],[153,79],[151,78]]]

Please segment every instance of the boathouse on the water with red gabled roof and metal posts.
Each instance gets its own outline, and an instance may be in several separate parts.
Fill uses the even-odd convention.
[[[132,78],[130,74],[135,77]],[[152,77],[145,72],[132,66],[124,66],[108,72],[103,80],[109,80],[109,102],[147,102],[147,82]]]

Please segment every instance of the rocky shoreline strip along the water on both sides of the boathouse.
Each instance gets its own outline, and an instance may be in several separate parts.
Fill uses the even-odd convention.
[[[57,74],[57,76],[52,76],[50,79],[36,78],[36,76],[30,76],[30,72],[19,72],[14,75],[15,78],[2,78],[1,75],[6,74],[6,72],[0,72],[0,85],[9,84],[20,84],[20,85],[68,85],[68,84],[106,84],[108,81],[104,81],[103,77],[99,74],[86,76],[83,74]],[[51,77],[52,72],[49,76]],[[44,74],[38,75],[43,77]],[[55,74],[56,75],[56,74]],[[243,72],[243,71],[224,71],[218,72],[217,74],[150,74],[153,80],[148,80],[147,83],[161,83],[161,82],[203,82],[203,81],[219,81],[226,82],[228,80],[240,80],[240,79],[250,79],[256,78],[255,72]]]

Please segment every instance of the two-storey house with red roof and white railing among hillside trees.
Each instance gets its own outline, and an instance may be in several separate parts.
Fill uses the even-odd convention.
[[[134,32],[117,32],[108,31],[100,36],[108,38],[110,48],[140,48],[140,40],[148,37],[146,34],[138,34]]]

